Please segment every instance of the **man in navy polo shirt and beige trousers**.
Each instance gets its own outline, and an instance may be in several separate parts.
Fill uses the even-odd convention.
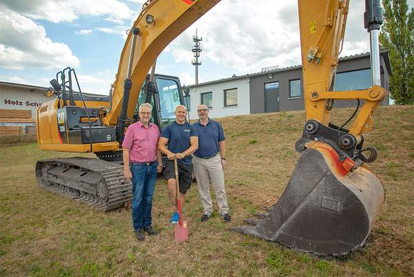
[[[199,122],[193,124],[199,137],[199,147],[193,154],[193,166],[199,197],[204,207],[201,221],[206,221],[213,213],[213,202],[210,196],[210,180],[213,184],[219,213],[224,221],[231,220],[228,213],[226,189],[224,189],[223,168],[226,164],[226,148],[224,132],[221,124],[208,118],[206,105],[197,107]]]

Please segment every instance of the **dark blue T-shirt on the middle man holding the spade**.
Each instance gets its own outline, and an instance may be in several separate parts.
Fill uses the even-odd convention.
[[[171,122],[162,129],[161,137],[168,139],[168,150],[172,153],[183,153],[190,146],[190,137],[198,137],[194,126],[185,122],[178,124],[176,121]],[[186,155],[184,159],[177,159],[181,164],[191,164],[191,155]]]

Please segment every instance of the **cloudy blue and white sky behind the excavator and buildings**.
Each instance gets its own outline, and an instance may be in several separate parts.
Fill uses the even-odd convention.
[[[144,2],[0,0],[0,81],[48,87],[70,66],[83,92],[108,95],[126,30]],[[363,13],[364,1],[351,1],[342,57],[369,51]],[[196,29],[203,39],[199,83],[301,64],[297,1],[221,0],[161,52],[157,73],[195,83]]]

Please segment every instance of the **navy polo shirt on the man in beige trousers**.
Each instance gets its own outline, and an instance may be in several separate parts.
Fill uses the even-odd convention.
[[[219,153],[219,142],[226,140],[221,124],[208,118],[206,126],[201,122],[195,122],[193,126],[199,134],[199,148],[194,152],[194,155],[197,157],[211,157]]]

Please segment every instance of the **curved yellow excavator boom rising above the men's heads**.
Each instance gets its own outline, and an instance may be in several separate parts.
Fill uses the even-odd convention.
[[[138,92],[161,51],[217,3],[219,0],[150,0],[144,3],[121,52],[113,84],[112,109],[103,120],[105,124],[116,125],[119,116],[131,118],[134,113],[139,95],[126,93],[125,80],[130,80],[130,91]]]

